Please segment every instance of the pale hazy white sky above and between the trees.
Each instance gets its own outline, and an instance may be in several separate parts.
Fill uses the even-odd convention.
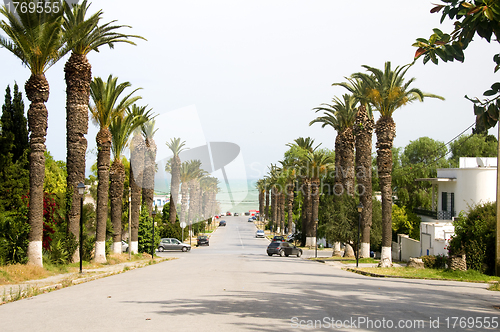
[[[240,146],[239,162],[245,166],[228,176],[245,176],[246,169],[247,177],[259,178],[300,136],[333,148],[332,128],[309,127],[312,109],[341,96],[345,91],[331,84],[363,71],[361,65],[407,64],[417,37],[429,37],[434,27],[450,31],[449,23],[439,24],[439,14],[429,13],[432,7],[430,1],[401,0],[94,0],[92,13],[103,9],[105,22],[131,25],[124,32],[147,41],[103,47],[89,60],[93,76],[113,74],[142,87],[139,104],[159,114],[158,160],[168,156],[165,141],[172,137],[190,148],[232,142]],[[471,125],[472,104],[464,95],[481,96],[495,82],[496,46],[478,39],[463,64],[424,66],[420,60],[414,65],[407,74],[417,78],[414,87],[446,101],[428,99],[398,110],[395,146],[421,136],[446,142]],[[47,148],[58,160],[66,159],[67,58],[47,72]],[[0,62],[3,100],[7,84],[24,86],[30,73],[4,49]],[[96,133],[91,123],[87,139],[94,152]],[[92,159],[95,153],[88,166]]]

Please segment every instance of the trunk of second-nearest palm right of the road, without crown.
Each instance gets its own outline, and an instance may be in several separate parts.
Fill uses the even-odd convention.
[[[366,108],[360,106],[356,114],[354,134],[356,136],[356,180],[357,194],[363,205],[361,212],[360,257],[370,257],[370,232],[372,226],[372,135],[374,122]]]

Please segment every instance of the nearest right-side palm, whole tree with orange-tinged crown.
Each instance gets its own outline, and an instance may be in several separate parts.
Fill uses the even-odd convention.
[[[424,97],[443,97],[423,93],[419,89],[410,88],[415,78],[405,82],[404,75],[411,64],[391,70],[391,63],[385,63],[384,71],[363,65],[368,73],[355,73],[354,79],[360,79],[366,85],[366,98],[373,108],[380,112],[375,125],[377,135],[377,167],[380,190],[382,192],[382,257],[379,266],[391,266],[392,242],[392,146],[396,136],[396,123],[392,114],[402,106]]]

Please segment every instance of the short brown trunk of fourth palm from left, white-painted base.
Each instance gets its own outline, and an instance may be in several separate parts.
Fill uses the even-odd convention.
[[[120,159],[115,159],[109,171],[111,184],[109,196],[111,200],[111,223],[113,224],[113,252],[122,252],[122,212],[123,185],[125,183],[125,166]]]

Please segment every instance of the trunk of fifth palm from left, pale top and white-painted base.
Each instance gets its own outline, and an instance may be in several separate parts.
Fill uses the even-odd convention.
[[[144,179],[144,150],[145,143],[141,135],[136,134],[130,142],[130,251],[139,251],[139,215],[141,211],[142,181]]]

